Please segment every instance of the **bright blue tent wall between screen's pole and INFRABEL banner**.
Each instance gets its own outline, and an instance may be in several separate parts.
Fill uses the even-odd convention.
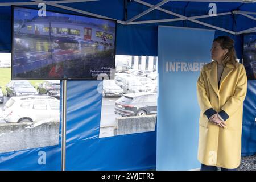
[[[101,85],[101,81],[68,81],[67,170],[154,169],[155,131],[98,138]]]

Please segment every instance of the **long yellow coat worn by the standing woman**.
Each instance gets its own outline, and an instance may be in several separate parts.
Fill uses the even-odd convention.
[[[205,165],[237,168],[241,160],[243,101],[247,77],[243,64],[226,64],[217,81],[217,61],[205,64],[197,81],[200,105],[198,160]],[[204,112],[210,108],[224,110],[229,118],[225,129],[209,122]]]

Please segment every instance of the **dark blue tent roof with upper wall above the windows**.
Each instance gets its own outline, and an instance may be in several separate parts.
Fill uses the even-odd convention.
[[[37,8],[39,2],[46,3],[49,11],[117,20],[117,54],[121,55],[157,56],[158,25],[214,28],[216,36],[236,40],[240,58],[243,34],[256,32],[256,3],[244,1],[0,0],[0,51],[11,51],[11,5]],[[215,17],[208,15],[212,2],[217,6]]]

